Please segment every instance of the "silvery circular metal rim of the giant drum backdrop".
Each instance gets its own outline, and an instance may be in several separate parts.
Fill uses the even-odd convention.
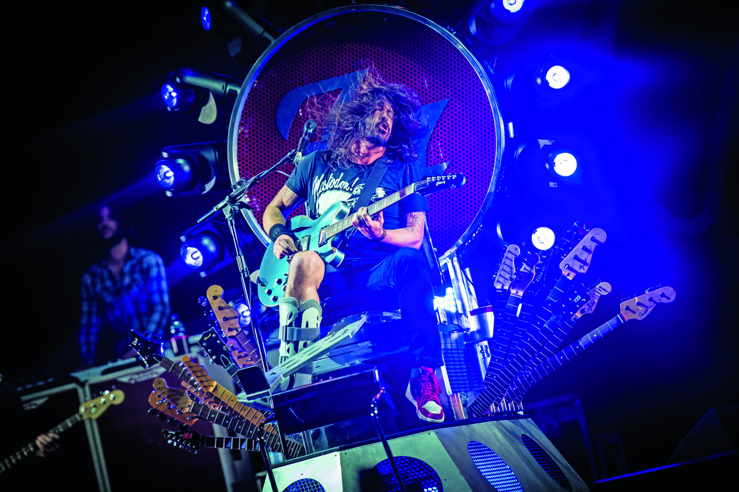
[[[249,71],[247,77],[244,80],[244,83],[242,84],[241,91],[239,92],[238,98],[236,98],[236,102],[234,103],[234,111],[231,113],[231,123],[229,125],[229,131],[228,131],[228,169],[229,173],[231,175],[231,182],[235,183],[237,180],[239,180],[239,162],[237,158],[238,153],[238,133],[239,133],[239,123],[244,111],[244,105],[248,98],[249,92],[251,87],[254,86],[254,83],[256,82],[259,75],[262,73],[262,69],[265,68],[265,66],[268,64],[271,58],[273,58],[274,55],[279,51],[281,47],[283,47],[287,41],[290,41],[290,39],[294,38],[296,35],[299,35],[300,33],[304,32],[309,28],[310,26],[313,26],[313,24],[317,24],[321,21],[325,21],[329,18],[335,17],[335,16],[341,16],[343,13],[347,12],[355,12],[355,11],[365,11],[365,12],[378,12],[378,13],[389,13],[395,16],[403,16],[406,18],[409,18],[413,21],[417,21],[420,24],[425,25],[426,27],[430,27],[433,30],[435,30],[438,34],[442,35],[443,38],[446,38],[446,41],[449,41],[454,47],[456,47],[459,52],[466,58],[466,61],[469,62],[471,65],[471,68],[474,69],[474,72],[477,74],[477,77],[480,78],[480,82],[483,84],[483,88],[485,89],[485,92],[488,96],[488,103],[490,104],[490,109],[492,112],[492,116],[495,122],[495,139],[494,139],[494,149],[491,149],[491,151],[494,151],[495,158],[494,158],[494,165],[493,165],[493,172],[491,175],[490,184],[488,185],[488,189],[486,192],[485,197],[483,198],[482,205],[480,205],[480,209],[477,211],[477,213],[474,216],[474,219],[470,222],[467,229],[462,233],[462,235],[454,242],[454,244],[449,247],[448,250],[446,250],[443,255],[440,256],[440,259],[446,259],[451,256],[454,256],[454,253],[460,247],[463,245],[466,245],[477,233],[477,230],[479,230],[483,217],[485,216],[486,211],[488,211],[488,208],[491,206],[491,202],[493,199],[494,190],[497,186],[498,177],[500,175],[500,160],[503,155],[503,146],[505,145],[505,134],[503,129],[503,119],[500,117],[500,112],[497,105],[497,100],[495,98],[495,94],[492,88],[492,85],[490,83],[490,80],[488,79],[488,75],[486,74],[485,70],[483,69],[483,66],[480,64],[479,61],[477,61],[477,58],[474,58],[474,55],[469,52],[466,47],[452,35],[452,33],[449,33],[448,30],[446,30],[444,27],[441,27],[438,24],[435,24],[435,22],[430,21],[427,18],[424,18],[422,16],[419,16],[418,14],[412,13],[409,10],[404,10],[398,7],[387,7],[384,5],[362,5],[361,7],[339,7],[333,10],[327,10],[324,13],[320,13],[316,16],[313,16],[311,18],[307,18],[306,20],[300,22],[299,24],[296,24],[295,26],[291,27],[290,30],[282,34],[279,38],[277,38],[273,44],[270,45],[270,47],[265,50],[264,53],[259,57],[259,60],[256,61],[256,63],[252,66],[251,70]],[[251,211],[242,209],[242,213],[244,214],[244,218],[246,219],[246,222],[248,223],[249,227],[253,231],[253,233],[256,235],[256,237],[259,238],[259,240],[264,244],[265,246],[270,244],[270,239],[265,233],[264,230],[262,230],[261,223],[259,219],[257,219]]]

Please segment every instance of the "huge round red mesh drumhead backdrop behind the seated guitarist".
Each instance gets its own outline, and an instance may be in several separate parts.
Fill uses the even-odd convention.
[[[249,72],[231,115],[231,182],[263,171],[295,148],[311,117],[309,100],[313,106],[330,105],[350,97],[343,88],[368,64],[387,81],[415,89],[429,105],[431,133],[426,148],[417,149],[421,164],[448,162],[446,172],[466,174],[467,184],[460,190],[429,196],[429,230],[439,256],[448,256],[471,239],[490,206],[503,152],[503,123],[477,60],[446,29],[407,10],[341,7],[278,38]],[[290,174],[293,166],[280,171]],[[255,211],[247,211],[245,218],[265,245],[269,239],[260,227],[262,213],[285,184],[285,174],[273,173],[249,193]],[[293,215],[299,213],[304,213],[302,207]]]

